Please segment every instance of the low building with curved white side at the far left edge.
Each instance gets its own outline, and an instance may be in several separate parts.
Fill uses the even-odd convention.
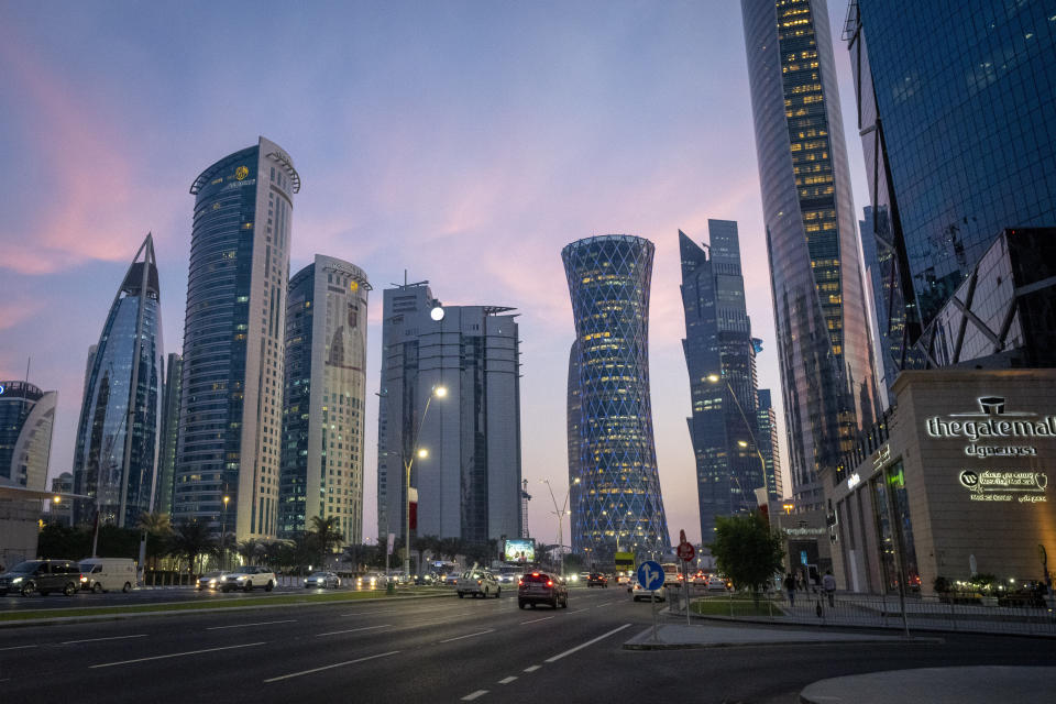
[[[46,488],[57,403],[58,392],[0,382],[0,486]]]

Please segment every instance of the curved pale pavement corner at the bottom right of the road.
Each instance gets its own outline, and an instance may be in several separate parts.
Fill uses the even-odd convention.
[[[804,704],[1038,704],[1056,696],[1056,668],[981,666],[890,670],[821,680],[800,693]]]

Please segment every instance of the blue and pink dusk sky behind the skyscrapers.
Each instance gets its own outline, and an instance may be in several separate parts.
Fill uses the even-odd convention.
[[[845,6],[834,0],[838,33]],[[856,211],[846,44],[834,40]],[[59,394],[51,475],[69,471],[88,346],[147,232],[165,352],[184,327],[194,179],[258,135],[290,154],[290,272],[316,253],[381,290],[427,279],[447,305],[520,318],[529,529],[556,542],[568,485],[572,309],[561,248],[630,233],[657,248],[650,374],[670,531],[700,539],[678,231],[739,223],[760,387],[780,373],[739,3],[42,2],[0,0],[0,378]],[[367,394],[364,536],[376,532],[377,397]],[[778,409],[784,437],[782,409]],[[782,454],[784,454],[782,448]],[[788,462],[784,462],[788,465]],[[788,479],[785,477],[788,486]],[[568,519],[564,536],[568,540]]]

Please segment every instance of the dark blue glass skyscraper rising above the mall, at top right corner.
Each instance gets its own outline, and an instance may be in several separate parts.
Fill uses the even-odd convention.
[[[1003,230],[1056,224],[1054,18],[1048,2],[848,7],[872,234],[888,254],[880,334],[898,370],[937,365],[928,327]]]

